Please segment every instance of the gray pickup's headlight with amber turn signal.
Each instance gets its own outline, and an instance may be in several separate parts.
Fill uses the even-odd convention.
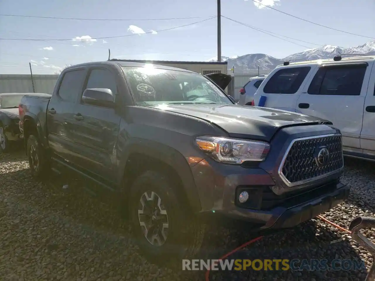
[[[267,142],[246,141],[219,137],[195,138],[196,145],[222,163],[242,164],[245,161],[264,161],[270,150]]]

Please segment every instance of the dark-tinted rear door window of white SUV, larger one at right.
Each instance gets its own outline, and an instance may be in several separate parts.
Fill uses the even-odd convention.
[[[311,81],[312,95],[359,96],[365,77],[366,64],[320,67]]]

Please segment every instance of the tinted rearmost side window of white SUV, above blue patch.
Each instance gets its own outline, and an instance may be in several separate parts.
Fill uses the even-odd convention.
[[[310,69],[309,66],[280,69],[270,78],[263,91],[266,94],[294,94]]]

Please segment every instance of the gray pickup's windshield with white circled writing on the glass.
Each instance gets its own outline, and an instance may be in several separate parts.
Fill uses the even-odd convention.
[[[222,90],[198,73],[123,67],[137,105],[233,104]]]

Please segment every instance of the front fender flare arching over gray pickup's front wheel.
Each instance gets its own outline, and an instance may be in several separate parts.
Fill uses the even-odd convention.
[[[145,157],[152,157],[170,166],[180,178],[183,187],[182,196],[186,196],[186,201],[193,212],[201,211],[198,190],[196,189],[194,177],[186,158],[176,149],[151,140],[134,139],[118,152],[120,163],[118,182],[124,179],[126,164],[130,155],[142,154]]]

